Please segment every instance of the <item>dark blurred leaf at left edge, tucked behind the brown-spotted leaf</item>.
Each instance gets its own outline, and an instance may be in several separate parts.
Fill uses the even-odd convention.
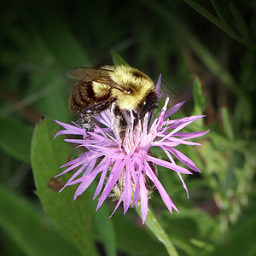
[[[11,117],[0,118],[0,146],[15,158],[29,162],[32,127]]]

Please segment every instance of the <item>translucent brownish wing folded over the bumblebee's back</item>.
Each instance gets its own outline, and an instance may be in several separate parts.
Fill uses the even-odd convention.
[[[100,84],[106,84],[117,90],[121,90],[125,93],[124,88],[121,84],[117,84],[111,79],[110,73],[113,70],[101,69],[101,68],[90,68],[90,67],[75,67],[67,71],[67,77],[71,79],[80,79],[84,82],[94,81]]]

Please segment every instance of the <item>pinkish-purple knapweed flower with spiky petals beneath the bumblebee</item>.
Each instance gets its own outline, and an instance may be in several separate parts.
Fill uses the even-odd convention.
[[[159,85],[160,79],[158,87]],[[207,131],[182,132],[184,127],[203,116],[170,119],[171,115],[181,108],[183,102],[167,110],[168,101],[167,98],[164,107],[160,109],[158,114],[154,116],[153,112],[146,113],[144,118],[137,122],[134,121],[133,113],[129,113],[127,128],[123,137],[120,137],[119,119],[113,113],[113,106],[96,117],[97,123],[101,125],[96,125],[95,130],[88,132],[88,134],[83,127],[75,123],[68,125],[56,121],[65,130],[58,131],[55,137],[62,134],[80,135],[81,138],[79,139],[65,139],[65,141],[86,148],[86,151],[80,154],[77,159],[61,166],[67,167],[67,169],[57,176],[78,168],[62,189],[79,183],[73,197],[75,200],[99,175],[100,178],[93,199],[101,191],[102,193],[98,198],[96,210],[102,206],[103,201],[109,195],[113,195],[118,199],[113,212],[116,211],[121,202],[123,202],[124,213],[130,206],[137,207],[137,204],[140,203],[144,224],[148,212],[148,197],[155,187],[168,210],[172,212],[173,208],[178,212],[177,207],[157,177],[156,166],[164,166],[176,172],[189,197],[182,174],[192,174],[192,172],[183,166],[178,166],[173,156],[188,166],[189,169],[201,172],[195,163],[176,147],[180,144],[200,145],[200,143],[190,142],[189,139],[201,137]],[[161,148],[169,160],[155,158],[150,153],[152,147]]]

